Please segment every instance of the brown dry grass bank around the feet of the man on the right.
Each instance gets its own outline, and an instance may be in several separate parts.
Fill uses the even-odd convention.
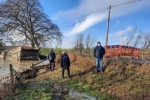
[[[72,80],[92,86],[99,93],[113,95],[121,100],[142,100],[150,96],[150,66],[136,64],[129,61],[104,61],[105,73],[95,73],[95,59],[90,57],[74,56],[69,54],[71,60]],[[59,82],[61,68],[56,67],[53,72],[39,76],[40,79],[50,78]]]

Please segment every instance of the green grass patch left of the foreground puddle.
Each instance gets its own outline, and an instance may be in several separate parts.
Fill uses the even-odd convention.
[[[6,100],[54,100],[57,92],[48,82],[44,84],[37,82],[28,84],[18,95],[8,97]]]

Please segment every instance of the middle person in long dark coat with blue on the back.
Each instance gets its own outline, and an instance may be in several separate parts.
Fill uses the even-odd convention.
[[[70,59],[65,51],[63,51],[62,56],[61,56],[60,66],[62,68],[62,78],[64,79],[64,72],[66,69],[68,71],[68,77],[71,78],[71,76],[70,76]]]

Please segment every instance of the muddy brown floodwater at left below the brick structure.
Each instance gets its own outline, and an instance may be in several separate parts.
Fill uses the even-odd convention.
[[[5,76],[10,73],[10,70],[9,70],[10,64],[12,64],[13,69],[15,69],[17,72],[22,72],[25,69],[29,69],[32,64],[36,64],[38,62],[40,62],[40,61],[31,61],[31,60],[30,61],[29,60],[19,61],[19,60],[2,60],[2,59],[0,59],[0,77]],[[41,65],[41,64],[44,64],[44,65],[48,64],[48,61],[44,61],[43,63],[40,63],[38,65]]]

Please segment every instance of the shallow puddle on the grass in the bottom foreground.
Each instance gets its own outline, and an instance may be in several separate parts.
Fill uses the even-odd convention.
[[[33,88],[37,88],[38,84],[34,83],[31,85]],[[48,83],[43,82],[40,84],[40,86],[50,86],[52,87],[53,92],[55,93],[55,100],[66,100],[65,97],[67,97],[67,100],[73,99],[73,100],[97,100],[95,97],[89,96],[84,92],[78,92],[75,90],[68,89],[67,87],[57,84],[57,83]],[[69,98],[69,99],[68,99]]]

